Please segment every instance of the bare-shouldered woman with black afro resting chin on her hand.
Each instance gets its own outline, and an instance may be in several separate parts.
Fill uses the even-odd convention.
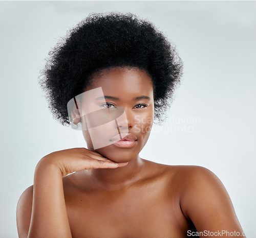
[[[38,162],[17,205],[19,237],[245,237],[212,172],[139,156],[181,72],[166,37],[132,14],[90,15],[71,30],[40,84],[88,149]]]

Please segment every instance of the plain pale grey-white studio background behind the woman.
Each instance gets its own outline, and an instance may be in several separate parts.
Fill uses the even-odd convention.
[[[154,126],[141,157],[210,169],[225,185],[247,237],[256,237],[254,1],[0,2],[0,236],[17,237],[16,204],[33,184],[39,159],[86,146],[81,131],[53,120],[37,78],[60,36],[102,11],[132,12],[154,22],[184,61],[168,112],[169,120],[180,123],[172,131],[168,122]],[[191,123],[196,118],[199,123]]]

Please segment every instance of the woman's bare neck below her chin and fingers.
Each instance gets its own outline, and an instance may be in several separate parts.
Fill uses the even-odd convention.
[[[116,190],[125,188],[142,177],[144,160],[137,155],[126,166],[116,169],[94,169],[91,176],[104,189]]]

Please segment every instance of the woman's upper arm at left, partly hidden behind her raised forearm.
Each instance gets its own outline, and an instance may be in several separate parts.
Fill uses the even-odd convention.
[[[33,186],[28,187],[20,196],[16,210],[19,238],[28,237],[33,200]]]

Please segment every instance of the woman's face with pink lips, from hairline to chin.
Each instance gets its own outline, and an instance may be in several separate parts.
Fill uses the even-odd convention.
[[[81,115],[93,115],[84,120],[87,121],[87,129],[83,130],[83,136],[88,149],[115,162],[129,162],[136,158],[150,136],[154,121],[154,94],[150,76],[140,69],[117,67],[94,77],[84,92],[88,94],[82,100],[81,110],[84,111]],[[105,111],[109,113],[104,114]],[[108,116],[112,120],[104,124],[104,118]],[[88,128],[92,128],[94,133],[90,133]],[[109,143],[95,149],[93,141]]]

